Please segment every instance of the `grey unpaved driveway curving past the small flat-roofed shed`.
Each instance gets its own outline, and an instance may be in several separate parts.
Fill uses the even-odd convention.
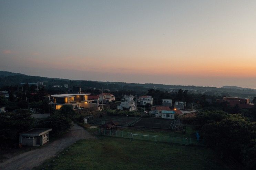
[[[75,141],[80,139],[94,138],[84,128],[74,124],[70,132],[64,137],[53,141],[39,149],[34,149],[4,160],[0,163],[1,170],[30,170],[43,163],[44,160],[55,156],[64,148],[70,146]],[[51,140],[51,138],[50,138]]]

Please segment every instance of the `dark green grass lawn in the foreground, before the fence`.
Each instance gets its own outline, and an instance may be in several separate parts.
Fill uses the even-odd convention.
[[[227,169],[206,147],[97,136],[67,149],[34,169]]]

